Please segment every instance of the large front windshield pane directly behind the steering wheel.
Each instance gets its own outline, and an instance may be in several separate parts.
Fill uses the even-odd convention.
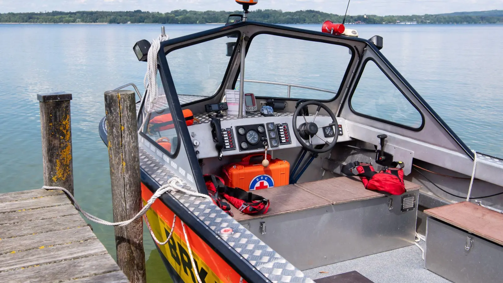
[[[349,51],[342,45],[259,34],[246,54],[244,91],[258,97],[333,99],[348,69]]]

